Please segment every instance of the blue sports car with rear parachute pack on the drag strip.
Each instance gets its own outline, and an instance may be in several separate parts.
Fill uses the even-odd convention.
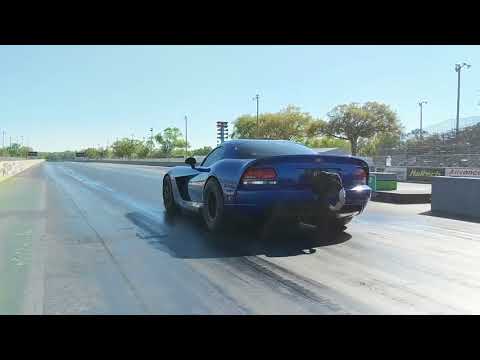
[[[371,196],[368,165],[352,156],[320,155],[284,140],[230,140],[197,166],[176,166],[163,178],[167,214],[200,212],[209,230],[249,217],[326,225],[343,231]]]

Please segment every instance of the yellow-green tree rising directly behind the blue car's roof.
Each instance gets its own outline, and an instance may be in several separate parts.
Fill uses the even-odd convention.
[[[309,113],[301,112],[299,107],[289,105],[277,113],[260,114],[258,132],[256,116],[240,116],[234,122],[232,138],[303,142],[307,136],[306,131],[313,121]]]

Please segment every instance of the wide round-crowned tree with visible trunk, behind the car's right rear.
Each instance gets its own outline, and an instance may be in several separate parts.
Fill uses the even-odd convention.
[[[358,153],[359,139],[372,138],[377,134],[400,132],[396,113],[388,105],[378,102],[338,105],[328,113],[328,117],[328,122],[319,120],[312,124],[309,134],[348,140],[352,155]]]

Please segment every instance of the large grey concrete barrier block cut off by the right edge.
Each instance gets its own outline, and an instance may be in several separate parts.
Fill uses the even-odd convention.
[[[480,219],[480,178],[432,178],[432,212]]]

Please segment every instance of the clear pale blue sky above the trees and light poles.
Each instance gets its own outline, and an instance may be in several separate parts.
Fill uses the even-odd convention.
[[[38,151],[105,146],[169,126],[194,147],[216,144],[216,121],[295,104],[385,102],[407,129],[480,115],[479,46],[0,46],[0,131]],[[1,135],[1,132],[0,132]],[[1,138],[0,138],[1,141]],[[0,143],[1,145],[1,143]]]

